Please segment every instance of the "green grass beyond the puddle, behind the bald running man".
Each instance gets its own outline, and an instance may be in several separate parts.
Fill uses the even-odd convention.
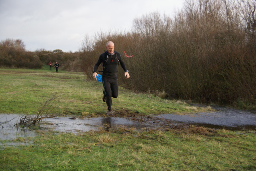
[[[106,113],[102,83],[87,81],[82,73],[53,70],[0,69],[0,113],[35,114],[40,103],[57,94],[55,113],[71,115]],[[120,87],[112,109],[120,115],[182,113],[208,110],[191,107],[150,94],[136,94]]]

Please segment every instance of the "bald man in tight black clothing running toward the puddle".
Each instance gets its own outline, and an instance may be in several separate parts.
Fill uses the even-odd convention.
[[[114,51],[114,43],[109,41],[106,44],[107,51],[100,55],[98,62],[94,66],[93,77],[97,80],[97,70],[99,65],[102,63],[103,74],[102,74],[102,84],[104,87],[102,100],[107,103],[108,112],[114,113],[112,111],[112,98],[117,98],[118,96],[118,82],[117,82],[117,70],[118,63],[120,62],[123,70],[124,76],[130,78],[128,70],[121,58],[119,52]]]

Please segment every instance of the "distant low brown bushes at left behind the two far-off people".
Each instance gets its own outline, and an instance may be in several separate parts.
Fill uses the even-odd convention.
[[[42,68],[49,62],[58,62],[64,70],[82,71],[80,66],[80,52],[62,52],[62,50],[35,52],[26,51],[22,40],[6,39],[0,42],[0,66],[12,68]]]

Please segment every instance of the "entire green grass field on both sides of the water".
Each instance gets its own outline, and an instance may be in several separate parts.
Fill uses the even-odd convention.
[[[0,113],[34,114],[55,93],[54,113],[95,115],[106,112],[102,84],[82,73],[0,69]],[[210,108],[136,94],[120,87],[113,100],[118,115],[187,113]],[[36,137],[0,140],[2,171],[255,171],[256,132],[179,127],[138,131],[119,127],[79,134],[37,130]],[[8,143],[27,145],[5,145]],[[2,145],[1,145],[2,144]]]

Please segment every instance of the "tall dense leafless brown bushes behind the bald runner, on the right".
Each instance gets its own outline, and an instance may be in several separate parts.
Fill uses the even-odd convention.
[[[254,0],[188,0],[174,18],[158,12],[134,20],[131,32],[99,34],[81,48],[91,78],[107,41],[123,57],[131,79],[119,83],[169,97],[256,104]]]

